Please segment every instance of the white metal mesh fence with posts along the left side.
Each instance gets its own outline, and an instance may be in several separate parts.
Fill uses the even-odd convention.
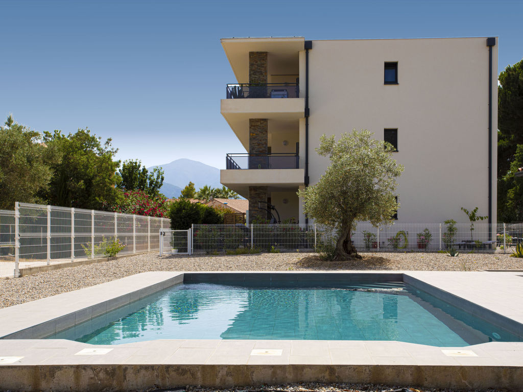
[[[106,257],[115,239],[119,254],[156,251],[158,232],[167,218],[15,203],[0,210],[0,276],[18,276],[19,268],[77,259]]]

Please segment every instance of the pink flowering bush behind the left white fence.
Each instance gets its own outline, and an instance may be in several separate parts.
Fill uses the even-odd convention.
[[[104,211],[120,212],[123,214],[136,214],[144,216],[167,216],[167,199],[163,194],[150,196],[144,191],[120,191],[119,202],[110,205],[104,201]]]

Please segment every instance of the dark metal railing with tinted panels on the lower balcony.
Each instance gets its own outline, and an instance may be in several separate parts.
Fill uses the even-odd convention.
[[[227,154],[225,168],[231,169],[298,169],[298,154]]]

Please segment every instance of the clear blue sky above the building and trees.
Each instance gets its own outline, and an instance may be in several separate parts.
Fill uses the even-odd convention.
[[[523,57],[522,20],[523,0],[0,0],[0,116],[88,126],[147,167],[224,168],[244,149],[220,114],[236,82],[220,38],[499,36],[502,71]]]

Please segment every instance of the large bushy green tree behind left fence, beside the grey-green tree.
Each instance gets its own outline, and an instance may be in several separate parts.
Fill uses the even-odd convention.
[[[113,160],[118,149],[112,148],[111,139],[101,143],[88,129],[78,129],[67,136],[61,131],[44,132],[43,143],[61,155],[51,162],[53,176],[43,193],[50,204],[99,209],[103,201],[118,202],[115,172],[120,163]]]

